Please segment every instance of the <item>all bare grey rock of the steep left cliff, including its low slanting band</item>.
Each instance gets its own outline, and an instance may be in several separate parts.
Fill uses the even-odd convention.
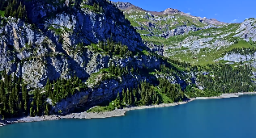
[[[145,69],[159,69],[163,62],[159,57],[141,53],[147,48],[139,33],[111,3],[87,0],[70,5],[69,1],[32,0],[24,5],[28,20],[0,19],[0,71],[22,78],[28,90],[44,90],[48,80],[74,76],[88,86],[58,102],[47,98],[53,107],[51,113],[67,114],[79,107],[92,107],[115,98],[124,88],[138,86],[144,80],[150,82],[151,77],[156,79],[154,75],[127,74],[101,80],[100,70],[110,65],[124,69],[133,66],[147,72]],[[96,44],[109,41],[137,54],[118,56],[95,50],[99,46]]]

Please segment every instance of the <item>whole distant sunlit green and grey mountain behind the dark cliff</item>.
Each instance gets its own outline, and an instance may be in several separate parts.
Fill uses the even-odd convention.
[[[231,57],[224,54],[235,48],[255,47],[255,19],[222,23],[172,8],[156,12],[143,10],[129,2],[116,2],[115,5],[124,12],[152,51],[174,60],[194,65],[216,61],[237,65],[241,61],[239,58],[246,55],[232,56],[233,60],[230,60]],[[251,57],[242,61],[253,61],[251,64],[255,65]]]

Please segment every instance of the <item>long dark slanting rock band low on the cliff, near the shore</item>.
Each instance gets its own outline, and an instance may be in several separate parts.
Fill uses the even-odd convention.
[[[62,111],[63,115],[75,111],[76,109],[85,110],[86,108],[99,105],[102,102],[111,101],[117,97],[117,93],[121,93],[123,89],[132,88],[138,85],[138,82],[146,79],[140,76],[122,77],[122,81],[108,80],[102,82],[100,86],[87,91],[81,91],[77,94],[70,96],[69,98],[62,99],[53,106],[52,111],[58,113]]]

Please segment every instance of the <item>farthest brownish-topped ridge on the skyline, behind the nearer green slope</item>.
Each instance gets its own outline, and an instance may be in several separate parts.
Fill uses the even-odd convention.
[[[138,6],[134,6],[129,2],[114,2],[114,4],[124,12],[126,18],[138,25],[139,27],[146,24],[151,24],[153,27],[158,27],[160,30],[171,30],[178,26],[195,26],[206,27],[208,25],[218,26],[227,23],[220,22],[216,19],[207,19],[195,17],[180,10],[168,8],[164,11],[149,11],[143,10]],[[144,23],[144,24],[143,24]]]

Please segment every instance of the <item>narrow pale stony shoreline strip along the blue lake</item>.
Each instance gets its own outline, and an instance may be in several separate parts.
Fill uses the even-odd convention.
[[[36,116],[36,117],[23,117],[23,118],[13,118],[13,119],[0,119],[0,127],[12,123],[29,123],[29,122],[39,122],[39,121],[49,121],[57,119],[104,119],[109,117],[124,116],[126,111],[134,111],[140,109],[149,109],[149,108],[159,108],[159,107],[173,107],[177,105],[186,104],[194,100],[204,100],[204,99],[217,99],[217,98],[238,98],[242,95],[251,95],[256,94],[256,92],[245,92],[245,93],[233,93],[233,94],[221,94],[220,96],[214,97],[198,97],[190,98],[188,101],[183,102],[173,102],[173,103],[161,103],[159,105],[151,106],[141,106],[141,107],[126,107],[123,109],[116,109],[114,111],[105,111],[105,112],[89,112],[86,111],[81,113],[71,113],[69,115],[45,115],[45,116]]]

